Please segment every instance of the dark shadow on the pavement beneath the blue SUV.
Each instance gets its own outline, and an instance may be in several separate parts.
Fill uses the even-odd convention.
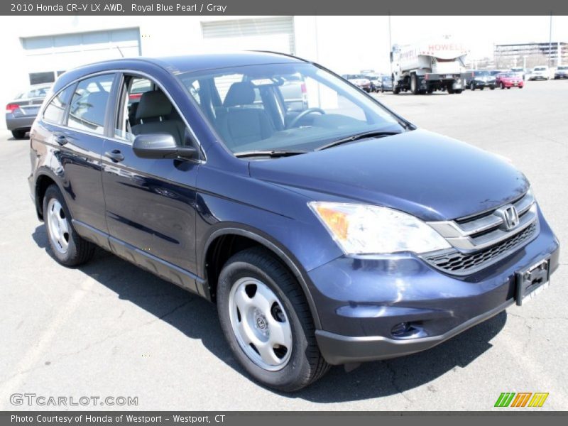
[[[45,226],[38,226],[32,237],[52,256]],[[141,307],[187,337],[200,339],[214,356],[246,376],[229,351],[219,327],[217,309],[212,303],[102,249],[97,249],[92,261],[78,269],[109,288],[120,299]],[[506,320],[506,312],[501,312],[433,349],[398,359],[362,364],[350,373],[346,373],[342,366],[334,366],[312,386],[296,393],[279,394],[315,403],[340,403],[404,393],[427,383],[428,391],[437,392],[435,384],[430,382],[446,373],[457,373],[459,368],[484,354],[491,348],[491,339],[503,328]]]

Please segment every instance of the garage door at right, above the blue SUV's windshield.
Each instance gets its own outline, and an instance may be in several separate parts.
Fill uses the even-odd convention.
[[[294,18],[231,19],[201,23],[210,50],[273,50],[295,53]]]

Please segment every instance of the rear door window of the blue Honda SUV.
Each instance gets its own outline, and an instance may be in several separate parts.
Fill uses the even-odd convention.
[[[104,116],[114,74],[97,75],[77,84],[71,101],[67,126],[104,134]]]

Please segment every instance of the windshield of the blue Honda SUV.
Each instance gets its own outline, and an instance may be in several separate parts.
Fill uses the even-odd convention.
[[[405,124],[341,78],[307,63],[250,65],[178,75],[233,153],[315,151]]]

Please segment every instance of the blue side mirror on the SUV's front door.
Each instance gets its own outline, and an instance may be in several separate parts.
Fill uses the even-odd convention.
[[[168,133],[138,135],[134,138],[132,151],[140,158],[197,158],[197,149],[176,145]]]

